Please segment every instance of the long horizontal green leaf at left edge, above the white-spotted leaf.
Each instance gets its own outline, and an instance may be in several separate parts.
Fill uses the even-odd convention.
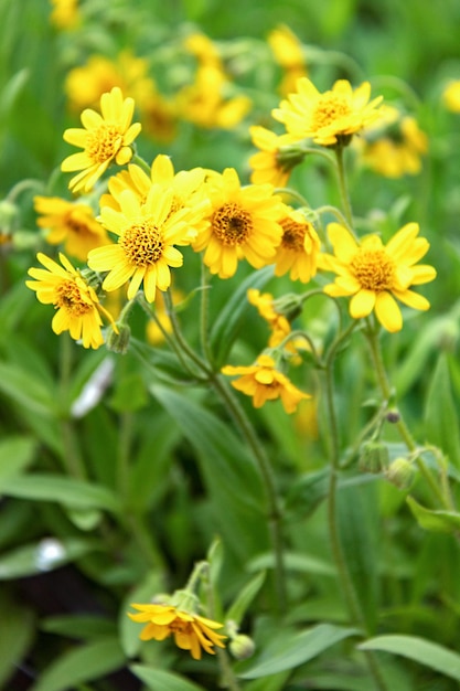
[[[35,501],[57,501],[77,509],[106,509],[118,512],[119,501],[106,487],[53,474],[29,474],[0,481],[0,491],[7,497]]]

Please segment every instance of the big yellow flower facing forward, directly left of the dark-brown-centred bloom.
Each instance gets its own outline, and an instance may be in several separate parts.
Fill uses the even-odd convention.
[[[88,266],[96,272],[109,272],[104,279],[104,290],[111,291],[128,280],[128,299],[132,299],[143,281],[149,302],[156,298],[157,288],[167,290],[171,284],[170,267],[183,264],[182,254],[173,245],[188,245],[195,234],[194,222],[202,210],[174,211],[172,189],[161,184],[150,187],[145,204],[131,190],[119,195],[120,211],[104,206],[100,221],[118,242],[97,247],[89,253]]]

